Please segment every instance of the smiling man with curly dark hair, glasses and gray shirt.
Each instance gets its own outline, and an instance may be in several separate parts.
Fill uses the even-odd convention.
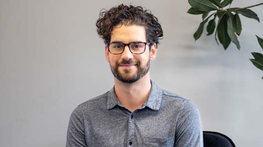
[[[203,147],[196,106],[150,80],[163,36],[158,19],[121,4],[101,12],[97,27],[115,85],[75,108],[66,147]]]

